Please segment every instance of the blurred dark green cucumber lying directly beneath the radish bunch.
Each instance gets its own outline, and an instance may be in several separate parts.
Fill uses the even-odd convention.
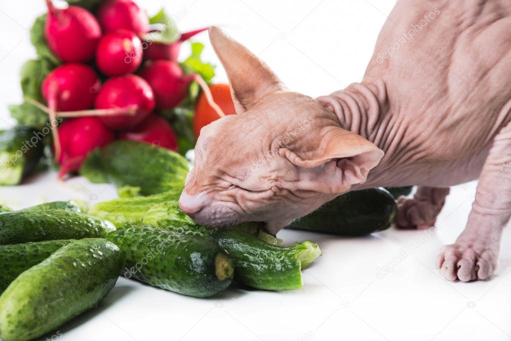
[[[94,170],[94,165],[99,165]],[[80,174],[96,180],[96,172],[118,186],[140,188],[151,195],[184,187],[187,160],[176,152],[144,142],[118,140],[90,153]]]

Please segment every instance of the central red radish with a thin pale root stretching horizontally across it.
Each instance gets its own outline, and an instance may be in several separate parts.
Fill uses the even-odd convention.
[[[101,116],[100,119],[111,129],[131,129],[142,122],[154,109],[154,95],[151,86],[135,75],[124,75],[108,79],[96,96],[96,109],[131,108],[134,115]]]

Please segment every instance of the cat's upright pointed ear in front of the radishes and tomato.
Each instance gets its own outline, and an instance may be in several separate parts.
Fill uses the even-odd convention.
[[[270,68],[242,44],[216,26],[209,32],[213,49],[227,73],[237,113],[245,112],[264,95],[286,88]]]

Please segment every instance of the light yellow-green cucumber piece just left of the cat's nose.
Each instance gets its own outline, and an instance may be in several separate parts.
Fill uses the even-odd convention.
[[[148,196],[135,196],[98,202],[88,210],[88,214],[110,220],[117,226],[127,222],[142,222],[142,218],[155,204],[177,200],[182,188]]]

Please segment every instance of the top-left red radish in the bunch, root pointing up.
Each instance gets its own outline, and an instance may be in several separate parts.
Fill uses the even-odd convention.
[[[44,36],[50,49],[66,62],[92,59],[101,37],[101,28],[94,15],[78,6],[59,9],[51,0],[46,3],[48,16]]]

